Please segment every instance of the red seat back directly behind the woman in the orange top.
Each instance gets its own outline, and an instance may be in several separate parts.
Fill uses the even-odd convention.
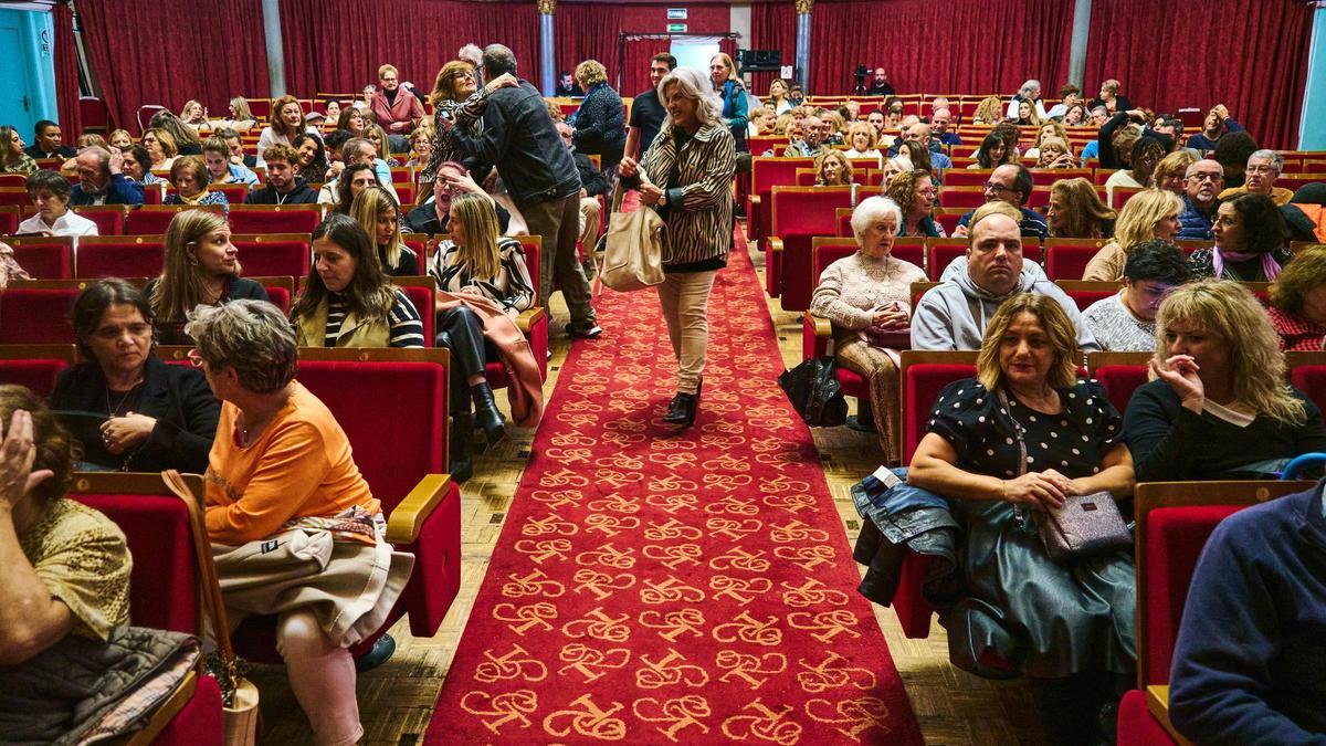
[[[318,352],[300,350],[298,381],[341,423],[354,449],[354,462],[385,511],[395,508],[426,474],[447,473],[443,366],[310,360]]]

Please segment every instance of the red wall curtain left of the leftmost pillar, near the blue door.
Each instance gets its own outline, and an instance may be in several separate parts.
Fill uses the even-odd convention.
[[[261,0],[94,0],[78,4],[78,17],[121,126],[137,130],[143,104],[179,112],[198,98],[224,114],[233,96],[268,94]]]

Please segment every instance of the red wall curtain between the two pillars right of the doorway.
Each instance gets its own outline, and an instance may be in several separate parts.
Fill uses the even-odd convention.
[[[1026,78],[1053,92],[1067,76],[1071,19],[1073,0],[822,0],[810,93],[851,92],[857,65],[884,66],[899,93],[1012,96]]]

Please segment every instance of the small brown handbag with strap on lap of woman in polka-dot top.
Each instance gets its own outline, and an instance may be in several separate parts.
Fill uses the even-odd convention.
[[[1013,418],[1008,397],[998,392],[1000,406],[1009,413],[1017,437],[1018,475],[1026,474],[1026,437],[1022,423]],[[1018,526],[1025,516],[1021,506],[1013,506]],[[1090,495],[1065,495],[1063,507],[1054,511],[1032,511],[1036,532],[1045,544],[1045,554],[1054,561],[1099,555],[1132,546],[1132,532],[1119,514],[1114,496],[1102,490]]]

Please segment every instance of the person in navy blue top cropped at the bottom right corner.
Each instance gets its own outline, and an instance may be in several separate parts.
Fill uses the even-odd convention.
[[[1311,743],[1326,733],[1321,487],[1216,526],[1192,573],[1170,719],[1193,743]]]

